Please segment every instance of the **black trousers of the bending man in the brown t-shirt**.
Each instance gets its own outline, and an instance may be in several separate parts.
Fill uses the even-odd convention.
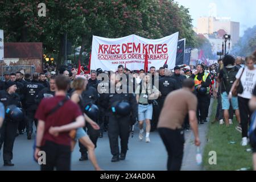
[[[168,152],[167,170],[180,171],[185,142],[184,131],[159,128],[158,132]]]

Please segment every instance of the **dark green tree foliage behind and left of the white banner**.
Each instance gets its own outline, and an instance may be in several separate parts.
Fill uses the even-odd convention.
[[[38,16],[41,2],[46,17]],[[59,59],[65,33],[74,47],[82,45],[87,52],[93,35],[159,39],[179,31],[188,46],[196,44],[188,9],[173,0],[5,0],[0,9],[6,42],[43,42],[44,53],[57,53]]]

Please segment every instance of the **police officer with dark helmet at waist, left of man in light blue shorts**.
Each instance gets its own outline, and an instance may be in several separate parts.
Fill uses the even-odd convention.
[[[132,122],[136,121],[138,115],[138,104],[134,93],[128,93],[127,84],[120,81],[120,76],[115,76],[112,74],[110,76],[110,84],[115,87],[112,89],[110,86],[109,93],[106,94],[105,102],[102,103],[106,108],[110,110],[109,117],[109,143],[111,154],[113,155],[112,162],[118,162],[120,160],[125,160],[126,152],[128,150],[128,139],[129,130]],[[112,93],[114,91],[114,93]],[[118,113],[118,108],[115,106],[118,102],[128,102],[130,105],[130,111],[128,115],[122,115]],[[118,137],[121,138],[121,153],[119,152]],[[120,155],[120,158],[119,158]]]

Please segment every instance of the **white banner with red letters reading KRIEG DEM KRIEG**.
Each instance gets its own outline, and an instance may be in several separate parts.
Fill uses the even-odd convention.
[[[179,32],[154,40],[137,35],[117,39],[93,36],[90,69],[116,71],[118,65],[122,64],[130,70],[140,70],[144,68],[146,51],[148,68],[154,66],[159,69],[167,59],[168,68],[174,68],[178,36]]]

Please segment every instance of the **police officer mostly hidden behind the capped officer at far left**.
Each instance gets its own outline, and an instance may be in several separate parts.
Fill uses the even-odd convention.
[[[16,83],[16,86],[17,86],[16,94],[19,95],[20,101],[22,102],[22,105],[23,105],[23,103],[24,103],[24,85],[22,84],[22,82],[18,82],[16,80],[16,74],[15,73],[10,74],[10,81],[14,81]],[[24,134],[25,127],[26,127],[25,120],[23,119],[22,121],[19,121],[18,130],[19,130],[20,135]]]

